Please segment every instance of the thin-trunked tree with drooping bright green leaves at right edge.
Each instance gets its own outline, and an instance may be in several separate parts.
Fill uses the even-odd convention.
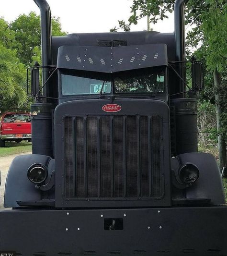
[[[204,42],[207,46],[206,64],[209,71],[214,74],[216,87],[216,116],[218,131],[219,160],[221,169],[226,166],[226,141],[223,131],[224,119],[222,118],[223,106],[221,87],[221,76],[227,68],[227,3],[222,1],[207,0],[209,12],[201,14],[202,29],[204,31]]]

